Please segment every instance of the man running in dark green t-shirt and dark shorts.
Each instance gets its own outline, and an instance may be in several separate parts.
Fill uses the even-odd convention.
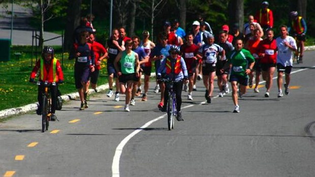
[[[244,44],[241,39],[235,41],[235,49],[228,53],[228,63],[230,65],[230,82],[232,85],[232,99],[234,103],[234,111],[239,112],[237,84],[240,84],[239,97],[246,93],[246,86],[248,82],[248,74],[253,70],[255,58],[246,49],[243,49]]]

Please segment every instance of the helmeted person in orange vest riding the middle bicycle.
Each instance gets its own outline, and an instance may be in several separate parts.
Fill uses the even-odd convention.
[[[183,121],[180,107],[181,107],[181,91],[183,87],[183,80],[188,80],[188,73],[184,59],[179,55],[180,49],[172,45],[169,50],[170,55],[164,60],[157,70],[157,78],[161,79],[162,71],[166,68],[165,78],[172,79],[174,82],[173,90],[176,95],[176,110],[177,110],[177,121]],[[167,84],[166,84],[167,85]],[[162,111],[166,111],[166,102],[168,100],[168,88],[165,89],[164,94],[164,106]]]

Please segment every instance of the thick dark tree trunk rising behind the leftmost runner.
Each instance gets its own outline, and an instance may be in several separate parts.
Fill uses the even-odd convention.
[[[67,13],[64,47],[66,51],[72,48],[74,43],[74,30],[80,23],[82,0],[70,0]]]

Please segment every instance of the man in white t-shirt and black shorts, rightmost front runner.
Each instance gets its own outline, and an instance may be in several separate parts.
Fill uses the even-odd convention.
[[[280,37],[276,39],[278,54],[277,54],[277,71],[278,71],[278,98],[283,96],[282,93],[282,76],[286,74],[285,94],[289,95],[290,73],[293,66],[293,53],[297,50],[295,39],[288,35],[288,27],[280,26]]]

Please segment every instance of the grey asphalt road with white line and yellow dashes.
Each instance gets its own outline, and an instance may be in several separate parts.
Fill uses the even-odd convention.
[[[231,93],[205,103],[202,82],[193,101],[183,92],[184,122],[169,131],[159,94],[136,99],[131,112],[100,93],[57,112],[41,133],[40,116],[0,124],[0,176],[315,176],[315,60],[295,65],[290,95],[269,98],[249,89],[232,113]],[[274,75],[276,76],[276,75]],[[274,80],[275,81],[275,80]]]

